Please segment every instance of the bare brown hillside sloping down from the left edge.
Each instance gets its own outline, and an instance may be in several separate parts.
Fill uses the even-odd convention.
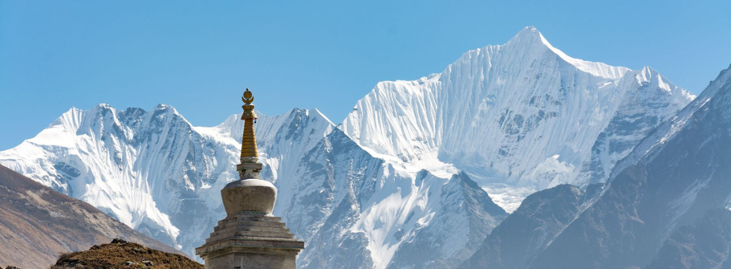
[[[182,254],[75,200],[0,165],[0,266],[45,269],[61,253],[123,238]]]

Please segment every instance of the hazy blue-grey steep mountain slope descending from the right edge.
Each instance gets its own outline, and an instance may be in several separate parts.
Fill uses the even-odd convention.
[[[670,235],[731,201],[731,69],[645,137],[531,268],[644,268]]]

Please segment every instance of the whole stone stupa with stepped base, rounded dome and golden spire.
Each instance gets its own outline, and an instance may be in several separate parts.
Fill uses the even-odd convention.
[[[272,215],[276,187],[259,179],[262,164],[254,132],[254,96],[247,88],[241,99],[244,125],[241,163],[236,165],[239,179],[221,189],[227,216],[195,253],[205,260],[206,269],[295,269],[305,243]]]

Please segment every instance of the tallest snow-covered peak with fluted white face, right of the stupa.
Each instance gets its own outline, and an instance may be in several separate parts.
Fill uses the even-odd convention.
[[[605,181],[693,98],[649,67],[571,58],[527,27],[440,74],[378,83],[339,127],[394,164],[464,170],[512,211],[536,189]]]

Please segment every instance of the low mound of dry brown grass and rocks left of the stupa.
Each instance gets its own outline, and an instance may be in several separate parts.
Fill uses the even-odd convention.
[[[137,243],[115,239],[87,251],[61,254],[50,269],[148,268],[203,269],[203,265],[178,254],[148,249]]]

